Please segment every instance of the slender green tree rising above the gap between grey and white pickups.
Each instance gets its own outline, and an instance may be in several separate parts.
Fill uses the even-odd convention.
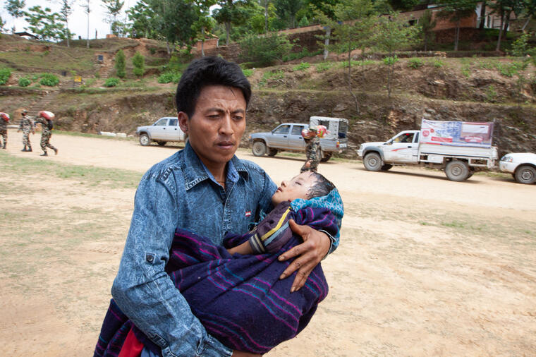
[[[372,1],[370,0],[341,0],[339,4],[333,7],[333,19],[327,17],[324,13],[317,13],[318,18],[322,21],[325,28],[332,29],[331,34],[334,40],[333,44],[325,44],[324,47],[348,56],[348,73],[346,81],[348,83],[348,92],[355,101],[355,111],[359,114],[359,100],[353,92],[352,84],[352,56],[354,49],[362,49],[370,45],[374,18],[372,18]]]

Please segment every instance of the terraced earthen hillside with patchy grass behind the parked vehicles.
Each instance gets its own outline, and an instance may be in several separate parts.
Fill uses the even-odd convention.
[[[44,46],[38,42],[2,36],[0,67],[8,66],[13,73],[11,85],[0,86],[0,110],[13,113],[30,107],[47,90],[54,92],[47,109],[56,113],[57,127],[90,133],[133,133],[136,126],[174,113],[175,84],[157,83],[155,73],[159,66],[150,66],[141,80],[125,80],[118,87],[104,88],[105,76],[95,73],[111,74],[113,66],[108,64],[102,70],[98,63],[88,64],[90,59],[95,62],[97,54],[112,58],[119,48],[123,48],[128,58],[140,51],[147,56],[148,63],[162,64],[166,59],[165,44],[128,39],[95,41],[89,50],[78,47],[82,44],[71,49],[47,45],[44,51],[48,53],[44,55],[38,51],[42,47],[32,47]],[[28,61],[16,61],[21,55]],[[359,112],[348,92],[345,62],[319,63],[317,58],[302,61],[303,64],[245,71],[254,88],[248,109],[248,133],[267,130],[284,121],[304,122],[311,115],[339,116],[351,121],[349,140],[355,147],[365,140],[385,140],[398,131],[418,128],[422,118],[495,121],[495,141],[501,152],[536,152],[536,68],[530,65],[524,72],[520,71],[516,66],[519,59],[400,59],[395,65],[390,99],[386,90],[387,67],[382,61],[356,61],[352,66],[352,80]],[[66,89],[65,85],[60,89],[16,85],[18,78],[28,73],[61,71],[59,63],[83,75],[85,85],[77,89]],[[525,78],[522,90],[518,86],[520,73]],[[72,76],[61,80],[69,83]],[[247,145],[247,140],[243,144]],[[349,150],[348,155],[352,154]]]

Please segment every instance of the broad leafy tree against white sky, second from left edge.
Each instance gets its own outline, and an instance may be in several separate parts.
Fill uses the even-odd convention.
[[[37,35],[41,40],[65,40],[65,28],[60,23],[64,21],[59,13],[53,13],[50,8],[32,6],[25,12],[24,19],[30,26],[28,29]]]

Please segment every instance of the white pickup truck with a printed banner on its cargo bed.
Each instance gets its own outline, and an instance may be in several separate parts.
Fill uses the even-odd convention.
[[[491,145],[493,123],[422,121],[421,130],[402,131],[386,142],[363,143],[358,155],[365,169],[386,171],[393,165],[422,164],[445,171],[451,181],[464,181],[475,171],[495,166]]]

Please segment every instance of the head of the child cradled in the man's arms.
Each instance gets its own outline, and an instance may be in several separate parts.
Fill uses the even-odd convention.
[[[313,197],[325,196],[334,188],[334,184],[321,174],[305,171],[293,177],[291,181],[281,182],[281,186],[272,195],[272,204],[276,206],[281,202],[297,198],[310,200]]]

